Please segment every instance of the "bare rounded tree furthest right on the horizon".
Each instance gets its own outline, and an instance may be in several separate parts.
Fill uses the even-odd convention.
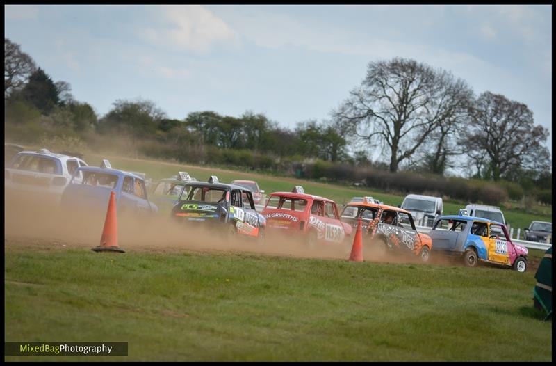
[[[550,153],[542,145],[548,129],[535,126],[523,103],[485,92],[470,109],[470,124],[461,136],[477,175],[500,180],[515,170],[550,170]]]

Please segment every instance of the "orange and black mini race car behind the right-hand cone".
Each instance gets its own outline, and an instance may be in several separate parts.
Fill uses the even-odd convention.
[[[366,253],[410,253],[423,262],[429,260],[432,241],[427,234],[417,232],[411,212],[367,199],[345,205],[341,215],[344,223],[357,228],[359,218]]]

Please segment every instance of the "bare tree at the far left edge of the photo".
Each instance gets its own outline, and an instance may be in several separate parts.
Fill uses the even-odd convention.
[[[17,43],[4,38],[4,99],[19,90],[36,70],[33,58],[23,52]]]

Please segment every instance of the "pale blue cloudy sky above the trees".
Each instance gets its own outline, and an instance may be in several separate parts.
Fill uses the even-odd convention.
[[[368,63],[411,58],[475,95],[526,104],[552,152],[552,6],[4,7],[5,37],[103,116],[150,100],[168,118],[328,120]]]

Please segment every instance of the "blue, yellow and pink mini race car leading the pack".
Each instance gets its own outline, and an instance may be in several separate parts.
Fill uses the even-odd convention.
[[[432,230],[434,253],[461,257],[466,266],[479,261],[527,270],[528,249],[514,244],[506,225],[488,218],[468,216],[460,210],[457,216],[439,217]]]

